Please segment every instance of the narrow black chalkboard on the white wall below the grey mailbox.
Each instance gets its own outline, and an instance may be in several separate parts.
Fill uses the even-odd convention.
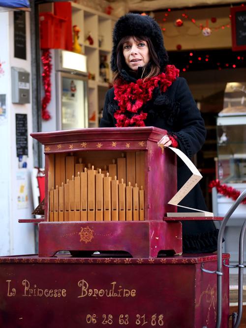
[[[27,114],[15,114],[16,126],[16,154],[28,156],[28,116]]]

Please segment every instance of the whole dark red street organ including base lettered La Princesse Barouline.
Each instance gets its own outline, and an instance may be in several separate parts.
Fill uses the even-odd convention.
[[[39,252],[0,258],[0,327],[228,328],[229,255],[218,270],[215,254],[182,254],[180,222],[222,218],[166,216],[177,177],[157,146],[165,132],[31,135],[44,145],[44,217],[20,222],[38,223]]]

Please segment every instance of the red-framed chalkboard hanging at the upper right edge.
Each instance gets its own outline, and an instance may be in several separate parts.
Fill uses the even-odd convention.
[[[246,50],[246,7],[231,8],[232,50]]]

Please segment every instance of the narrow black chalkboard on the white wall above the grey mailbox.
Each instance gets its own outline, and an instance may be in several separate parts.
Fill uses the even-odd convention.
[[[26,13],[14,12],[14,57],[27,59],[26,49]]]

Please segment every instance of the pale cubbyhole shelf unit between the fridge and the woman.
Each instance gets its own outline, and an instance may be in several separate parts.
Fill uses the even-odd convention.
[[[117,17],[104,14],[91,8],[71,2],[72,26],[77,25],[81,32],[79,43],[83,53],[87,56],[88,71],[94,75],[94,80],[89,80],[89,127],[97,127],[99,123],[99,112],[104,104],[104,97],[109,84],[100,81],[100,56],[107,56],[110,67],[110,56],[112,49],[112,31]],[[91,32],[93,45],[86,42]],[[99,40],[101,42],[99,46]],[[112,73],[109,69],[109,78],[112,81]]]

